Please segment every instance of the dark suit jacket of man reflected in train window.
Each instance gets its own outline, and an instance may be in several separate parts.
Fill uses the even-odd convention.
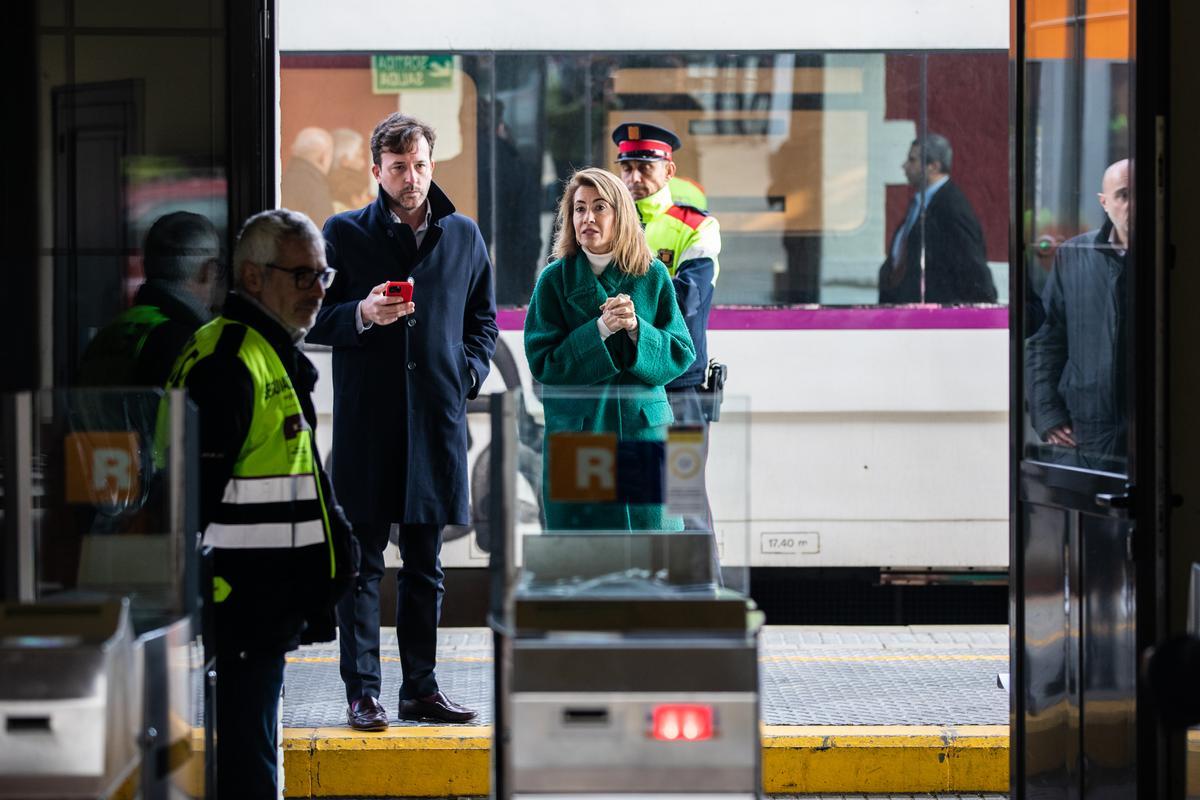
[[[996,302],[983,229],[971,203],[953,180],[946,181],[925,207],[924,230],[917,218],[908,231],[904,263],[894,269],[892,246],[900,228],[888,240],[888,258],[880,267],[880,302]],[[924,299],[920,296],[922,243],[925,245]]]

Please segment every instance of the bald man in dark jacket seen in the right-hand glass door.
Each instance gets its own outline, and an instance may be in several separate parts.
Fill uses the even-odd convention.
[[[1042,290],[1045,320],[1025,345],[1030,417],[1056,461],[1121,469],[1126,453],[1129,161],[1100,182],[1106,219],[1063,242]]]

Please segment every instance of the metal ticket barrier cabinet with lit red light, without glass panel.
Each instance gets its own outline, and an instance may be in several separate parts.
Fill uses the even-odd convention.
[[[515,800],[758,796],[761,614],[712,588],[709,553],[704,534],[526,539],[509,686]],[[648,594],[638,570],[607,571],[620,563],[667,581]],[[590,585],[564,591],[564,573]]]

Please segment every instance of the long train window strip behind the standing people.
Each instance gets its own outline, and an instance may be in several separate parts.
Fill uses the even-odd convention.
[[[382,88],[380,64],[415,83]],[[416,85],[430,65],[449,77]],[[313,128],[368,137],[397,108],[425,116],[436,180],[479,221],[502,306],[528,302],[570,172],[616,169],[622,121],[680,136],[677,201],[721,225],[716,305],[1007,301],[1006,53],[284,53],[280,83],[283,203],[307,210],[317,192],[323,219],[374,191],[354,167],[358,194],[325,199],[295,161]],[[914,142],[940,172],[906,172]]]

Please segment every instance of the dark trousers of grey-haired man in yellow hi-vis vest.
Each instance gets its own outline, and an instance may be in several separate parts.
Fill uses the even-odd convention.
[[[217,798],[278,794],[282,652],[217,654]]]

